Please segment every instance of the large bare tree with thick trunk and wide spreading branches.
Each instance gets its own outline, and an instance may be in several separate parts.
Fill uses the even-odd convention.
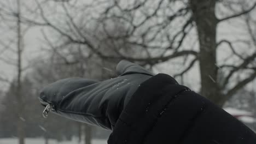
[[[244,16],[254,13],[254,1],[51,1],[37,4],[40,20],[34,21],[24,17],[24,21],[49,27],[59,34],[59,38],[67,39],[69,44],[84,45],[101,58],[128,59],[150,65],[177,59],[184,61],[185,67],[175,76],[183,76],[199,63],[201,94],[220,106],[255,78],[255,51],[237,52],[238,48],[232,44],[234,42],[216,39],[219,25],[243,19]],[[54,5],[63,19],[53,20],[48,16],[49,5]],[[219,13],[217,8],[231,12]],[[219,13],[219,16],[216,13]],[[245,21],[251,21],[252,17],[248,19]],[[109,29],[111,31],[117,28],[111,25],[114,21],[125,27],[123,33],[109,34]],[[95,25],[94,31],[86,29],[91,25]],[[250,26],[252,27],[246,27]],[[129,49],[136,49],[142,55],[127,55],[125,46],[111,47],[114,55],[104,53],[101,49],[102,39],[95,35],[97,29],[104,29],[104,35],[107,35],[104,39],[114,40],[115,43],[121,41]],[[250,32],[248,34],[252,35]],[[254,43],[253,39],[249,43]],[[240,58],[240,65],[236,65],[234,61],[231,64],[217,61],[218,50],[224,46],[231,50],[231,59]],[[220,69],[227,71],[223,75],[223,82],[218,81]],[[246,73],[248,69],[251,69],[251,73],[233,85],[232,78],[238,71]]]

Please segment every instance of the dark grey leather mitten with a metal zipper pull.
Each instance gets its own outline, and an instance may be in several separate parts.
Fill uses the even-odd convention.
[[[50,110],[57,115],[112,130],[125,106],[126,97],[132,94],[131,89],[136,89],[134,87],[138,87],[140,80],[144,81],[153,75],[127,61],[119,62],[117,71],[121,74],[119,77],[106,81],[78,77],[56,81],[42,89],[39,100],[43,106],[50,105]],[[129,74],[143,74],[147,77],[142,79],[141,75]],[[138,85],[124,85],[132,79]]]

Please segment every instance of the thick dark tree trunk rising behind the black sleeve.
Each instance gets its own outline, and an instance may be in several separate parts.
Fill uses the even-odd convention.
[[[201,94],[213,103],[222,106],[224,102],[218,86],[218,68],[216,67],[215,5],[216,1],[190,0],[200,45]]]

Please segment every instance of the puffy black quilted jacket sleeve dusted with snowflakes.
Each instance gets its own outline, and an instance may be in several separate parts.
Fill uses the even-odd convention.
[[[133,94],[108,143],[244,144],[256,143],[256,135],[173,77],[158,74]]]

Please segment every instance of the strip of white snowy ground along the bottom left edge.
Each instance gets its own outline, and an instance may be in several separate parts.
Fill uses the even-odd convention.
[[[45,140],[41,138],[27,138],[25,140],[26,144],[44,144]],[[80,142],[80,144],[84,143],[84,141]],[[0,144],[18,144],[18,139],[16,138],[7,138],[0,139]],[[57,142],[56,140],[50,139],[48,144],[78,144],[78,141],[73,139],[72,141],[62,141]],[[107,144],[107,140],[92,140],[92,144]]]

